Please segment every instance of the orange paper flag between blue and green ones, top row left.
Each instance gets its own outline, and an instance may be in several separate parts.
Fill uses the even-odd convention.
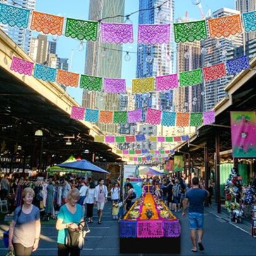
[[[31,30],[44,34],[62,35],[64,17],[32,11]]]

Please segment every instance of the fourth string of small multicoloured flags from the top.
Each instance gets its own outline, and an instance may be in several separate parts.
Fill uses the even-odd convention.
[[[114,135],[96,135],[94,138],[95,142],[105,142],[105,143],[133,143],[133,142],[143,142],[145,140],[149,140],[150,142],[185,142],[189,140],[188,135],[182,136],[173,136],[173,137],[162,137],[162,136],[149,136],[145,137],[145,135],[126,135],[126,136],[114,136]],[[123,150],[123,154],[128,154],[129,150]],[[141,150],[140,150],[141,151]],[[148,152],[136,152],[136,154],[145,154]],[[169,154],[170,152],[165,152],[161,154]],[[133,153],[131,153],[133,154]],[[135,153],[134,153],[135,154]],[[155,154],[159,154],[159,152],[155,152]]]

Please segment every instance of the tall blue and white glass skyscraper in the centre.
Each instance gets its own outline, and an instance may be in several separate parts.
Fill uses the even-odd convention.
[[[171,24],[171,38],[169,44],[157,44],[149,46],[139,44],[137,48],[137,78],[169,75],[173,73],[173,21],[174,21],[174,0],[163,4],[159,11],[157,6],[165,0],[140,0],[141,11],[138,17],[139,24]],[[152,9],[154,8],[154,9]],[[173,107],[173,92],[152,92],[150,94],[136,95],[135,107],[143,109],[143,119],[148,107],[170,111]],[[145,135],[159,135],[166,133],[164,127],[153,125],[138,125],[138,131]],[[142,149],[155,149],[157,143],[142,143]]]

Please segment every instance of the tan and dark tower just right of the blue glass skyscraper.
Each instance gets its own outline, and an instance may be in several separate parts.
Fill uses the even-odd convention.
[[[185,58],[186,57],[186,58]],[[181,42],[177,44],[177,72],[196,70],[201,68],[201,47],[200,41]],[[175,110],[177,112],[202,112],[203,96],[201,95],[203,85],[193,87],[179,87],[176,89]]]

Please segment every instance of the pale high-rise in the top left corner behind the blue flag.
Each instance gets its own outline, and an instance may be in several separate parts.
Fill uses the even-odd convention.
[[[0,2],[16,7],[34,10],[36,0],[0,0]],[[11,37],[11,39],[13,39],[16,44],[18,44],[18,46],[20,46],[25,52],[30,52],[32,37],[31,30],[18,27],[10,27],[9,25],[1,25],[1,27],[3,27],[4,32],[6,32],[6,34],[8,34],[9,37]]]

